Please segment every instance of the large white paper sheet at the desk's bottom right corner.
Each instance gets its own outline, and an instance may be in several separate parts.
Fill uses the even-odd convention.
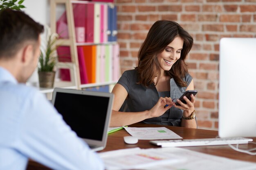
[[[256,163],[218,157],[184,148],[157,148],[157,150],[184,157],[186,162],[151,166],[143,170],[256,170]]]

